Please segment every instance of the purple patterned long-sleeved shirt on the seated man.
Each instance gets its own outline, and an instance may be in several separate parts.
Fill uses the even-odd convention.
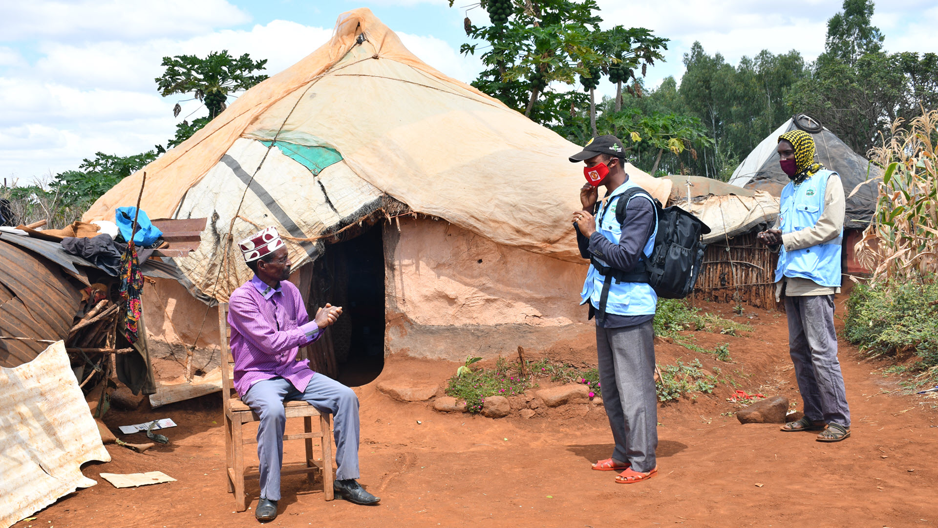
[[[274,289],[255,275],[234,290],[228,308],[237,393],[244,396],[252,384],[277,376],[305,391],[314,372],[310,360],[296,361],[296,355],[322,332],[310,321],[299,289],[289,281]]]

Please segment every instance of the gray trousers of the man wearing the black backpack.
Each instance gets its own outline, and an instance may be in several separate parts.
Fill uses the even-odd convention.
[[[613,458],[632,469],[655,469],[658,395],[655,392],[655,331],[652,321],[627,328],[596,327],[602,404],[613,428]]]

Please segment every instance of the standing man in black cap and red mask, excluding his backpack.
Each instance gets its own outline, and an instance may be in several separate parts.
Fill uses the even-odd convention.
[[[583,258],[590,259],[581,304],[596,317],[602,403],[613,429],[612,457],[597,471],[622,472],[620,484],[658,474],[658,395],[655,391],[655,332],[658,296],[647,284],[643,256],[651,255],[657,231],[652,197],[623,170],[625,149],[613,135],[595,137],[570,162],[585,163],[582,210],[573,225]],[[598,202],[598,187],[606,194]],[[615,218],[616,202],[627,199],[626,217]],[[644,281],[644,282],[643,282]]]

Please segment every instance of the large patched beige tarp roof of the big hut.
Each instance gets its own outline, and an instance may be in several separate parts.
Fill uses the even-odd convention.
[[[313,239],[356,222],[382,195],[492,241],[581,262],[569,214],[581,207],[582,172],[567,160],[579,149],[424,64],[360,8],[340,16],[325,46],[144,167],[142,209],[210,219],[196,254],[176,260],[209,293],[235,212],[234,241],[255,225]],[[667,200],[670,181],[633,172]],[[113,219],[116,207],[136,203],[141,180],[122,180],[84,220]],[[318,254],[316,243],[288,240],[295,267]],[[230,257],[243,276],[222,279],[218,299],[249,273]]]

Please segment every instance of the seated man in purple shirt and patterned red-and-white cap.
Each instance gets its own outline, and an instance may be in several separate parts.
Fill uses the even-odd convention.
[[[261,467],[258,520],[277,517],[280,467],[283,461],[285,400],[305,400],[335,418],[336,481],[340,497],[358,505],[381,499],[356,482],[358,478],[358,397],[352,389],[310,370],[309,360],[297,362],[299,347],[319,339],[336,321],[341,306],[325,304],[310,320],[299,289],[290,277],[287,248],[273,227],[238,242],[253,278],[234,290],[229,301],[234,388],[261,418],[257,456]]]

